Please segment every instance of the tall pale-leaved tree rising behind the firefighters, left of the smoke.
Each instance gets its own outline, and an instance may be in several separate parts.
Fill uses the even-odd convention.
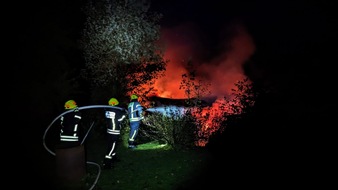
[[[99,0],[84,8],[82,76],[90,82],[94,100],[126,97],[165,71],[163,49],[157,43],[162,15],[149,13],[149,6],[139,2]]]

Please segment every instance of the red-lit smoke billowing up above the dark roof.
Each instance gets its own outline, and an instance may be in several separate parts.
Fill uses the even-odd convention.
[[[155,82],[155,89],[159,96],[173,99],[187,98],[179,87],[182,75],[188,73],[188,61],[196,71],[195,81],[210,84],[210,96],[230,96],[234,84],[246,77],[242,65],[255,51],[251,36],[238,22],[224,26],[216,36],[193,23],[164,28],[161,42],[169,63],[165,76]]]

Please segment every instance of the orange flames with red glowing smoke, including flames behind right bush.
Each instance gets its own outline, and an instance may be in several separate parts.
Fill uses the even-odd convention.
[[[201,133],[207,133],[207,135],[218,130],[219,126],[217,126],[217,122],[213,122],[213,119],[224,112],[220,109],[220,104],[224,101],[224,97],[231,96],[231,89],[235,88],[235,83],[245,78],[242,65],[255,51],[251,36],[241,24],[227,26],[226,30],[232,30],[236,35],[232,38],[223,38],[220,34],[222,37],[220,39],[226,40],[220,40],[218,46],[230,48],[212,54],[212,58],[204,56],[208,47],[205,47],[205,44],[200,40],[201,37],[192,24],[162,31],[161,42],[166,45],[164,58],[169,60],[169,63],[165,77],[155,81],[153,93],[163,98],[187,98],[185,91],[180,90],[179,87],[182,75],[189,72],[187,63],[191,62],[192,68],[196,71],[196,79],[210,84],[211,94],[208,96],[217,97],[217,100],[211,106],[205,107],[199,115],[199,118],[204,118],[203,116],[207,113],[211,116],[203,121],[204,126]],[[199,142],[199,145],[203,146],[205,143]]]

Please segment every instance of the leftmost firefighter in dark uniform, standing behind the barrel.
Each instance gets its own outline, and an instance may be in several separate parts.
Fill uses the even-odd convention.
[[[61,147],[69,148],[80,145],[80,121],[81,112],[74,100],[68,100],[64,105],[66,110],[73,110],[60,117],[60,141]]]

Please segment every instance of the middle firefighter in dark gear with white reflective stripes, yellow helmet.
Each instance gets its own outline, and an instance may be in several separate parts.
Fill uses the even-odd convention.
[[[107,121],[107,151],[104,157],[103,168],[110,169],[113,163],[117,161],[116,148],[119,142],[122,121],[127,117],[125,109],[118,107],[119,101],[111,98],[108,105],[111,108],[105,108],[105,118]]]

